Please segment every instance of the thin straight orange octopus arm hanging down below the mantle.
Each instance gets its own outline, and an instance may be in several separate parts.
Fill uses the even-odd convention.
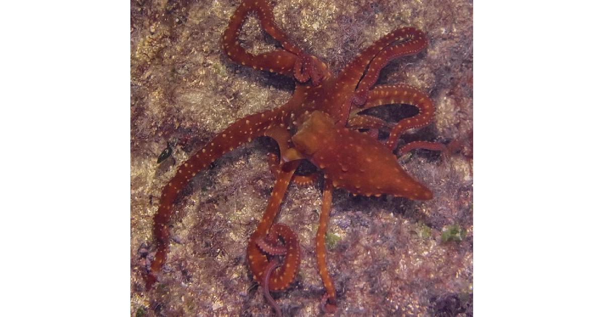
[[[319,268],[319,274],[323,285],[327,291],[327,302],[324,309],[326,312],[333,313],[337,309],[336,306],[336,290],[333,287],[332,279],[327,273],[327,263],[325,260],[325,234],[327,233],[327,222],[329,221],[329,211],[332,209],[332,191],[333,185],[330,179],[326,179],[323,185],[323,203],[321,205],[321,216],[319,217],[319,227],[316,229],[316,264]]]

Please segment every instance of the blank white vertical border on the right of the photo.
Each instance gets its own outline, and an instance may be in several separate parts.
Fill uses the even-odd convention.
[[[602,314],[602,5],[474,4],[475,316]]]

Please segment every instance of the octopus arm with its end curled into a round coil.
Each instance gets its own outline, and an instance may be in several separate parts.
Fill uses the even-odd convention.
[[[271,228],[272,222],[277,216],[281,200],[285,191],[288,188],[289,181],[294,175],[294,171],[300,164],[300,161],[292,161],[281,164],[281,168],[273,187],[271,198],[268,202],[268,207],[262,216],[257,228],[249,238],[248,243],[248,265],[252,276],[255,281],[262,281],[265,277],[266,267],[268,266],[268,258],[263,254],[262,249],[258,246],[259,239],[264,239],[269,235],[269,228]],[[276,224],[273,226],[277,231],[278,235],[283,238],[285,246],[288,249],[286,252],[284,264],[275,269],[271,274],[268,281],[268,287],[270,290],[284,289],[294,280],[295,272],[300,265],[300,246],[295,234],[288,228],[288,226]]]

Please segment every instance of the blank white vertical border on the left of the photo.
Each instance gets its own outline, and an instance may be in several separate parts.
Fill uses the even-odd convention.
[[[3,316],[127,316],[129,1],[2,4]]]

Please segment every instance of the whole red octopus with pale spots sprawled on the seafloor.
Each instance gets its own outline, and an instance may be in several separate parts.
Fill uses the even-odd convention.
[[[246,16],[257,14],[260,25],[280,47],[274,51],[250,54],[239,44],[239,33]],[[413,27],[402,27],[377,40],[338,75],[326,63],[304,53],[275,25],[272,8],[265,0],[243,0],[223,33],[222,48],[235,63],[260,71],[293,78],[291,99],[271,110],[240,118],[214,136],[176,169],[176,175],[163,187],[158,211],[153,218],[156,254],[145,276],[150,289],[162,271],[170,246],[169,221],[176,197],[199,171],[245,142],[260,136],[274,139],[279,155],[269,155],[275,184],[268,207],[248,240],[246,260],[254,281],[260,284],[267,301],[281,315],[269,291],[283,290],[295,278],[300,265],[297,236],[283,223],[274,223],[281,200],[291,182],[307,185],[320,181],[323,173],[323,198],[315,237],[318,271],[325,294],[321,308],[336,312],[336,289],[327,272],[325,236],[332,193],[335,188],[356,195],[382,194],[406,199],[429,200],[432,192],[416,181],[397,161],[397,154],[414,149],[443,150],[436,142],[414,141],[397,149],[400,135],[429,124],[435,107],[424,92],[404,84],[376,85],[377,77],[391,60],[417,54],[427,46],[426,35]],[[364,114],[362,110],[384,104],[410,104],[419,111],[396,124]],[[378,138],[380,130],[388,138]],[[306,160],[318,171],[295,173]]]

